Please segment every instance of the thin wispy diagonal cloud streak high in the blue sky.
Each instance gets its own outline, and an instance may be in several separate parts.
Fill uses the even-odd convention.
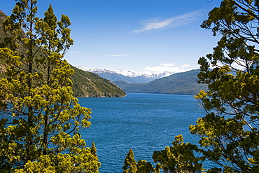
[[[195,22],[197,18],[202,15],[204,15],[204,12],[201,10],[197,10],[183,15],[177,15],[165,20],[145,22],[141,24],[143,25],[143,27],[141,27],[140,29],[133,30],[132,32],[140,33],[180,27],[182,25],[187,25],[189,23]]]

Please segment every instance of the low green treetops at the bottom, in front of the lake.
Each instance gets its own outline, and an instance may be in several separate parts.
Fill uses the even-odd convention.
[[[199,157],[202,155],[201,149],[197,146],[184,143],[183,137],[181,135],[175,137],[175,141],[172,142],[173,146],[165,147],[165,150],[154,151],[153,160],[157,163],[155,167],[151,162],[146,162],[146,160],[139,160],[136,162],[134,160],[134,153],[130,148],[124,163],[124,172],[131,173],[149,173],[155,172],[202,172],[202,161],[204,157]]]

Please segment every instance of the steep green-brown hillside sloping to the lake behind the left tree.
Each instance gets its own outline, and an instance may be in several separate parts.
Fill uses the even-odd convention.
[[[0,47],[3,46],[2,42],[5,37],[2,27],[5,18],[5,13],[0,11]],[[0,60],[0,77],[3,76],[4,72],[1,64]],[[101,78],[97,74],[82,71],[72,66],[71,68],[75,71],[72,76],[72,90],[76,97],[125,97],[126,93],[111,81]]]

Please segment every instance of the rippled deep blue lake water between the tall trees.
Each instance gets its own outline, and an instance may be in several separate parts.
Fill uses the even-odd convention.
[[[102,167],[99,172],[123,172],[130,148],[135,160],[152,161],[153,151],[172,146],[174,136],[197,144],[189,125],[204,116],[192,95],[127,93],[124,98],[79,98],[92,109],[92,125],[81,132],[87,145],[94,141]]]

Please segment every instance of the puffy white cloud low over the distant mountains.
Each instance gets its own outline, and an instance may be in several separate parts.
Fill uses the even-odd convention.
[[[187,68],[187,67],[190,67],[190,68]],[[169,63],[162,62],[159,66],[145,67],[142,71],[144,71],[145,74],[160,74],[160,73],[163,73],[164,71],[179,73],[179,72],[184,72],[191,69],[197,69],[197,68],[191,67],[190,64],[182,64],[180,66],[175,66],[175,64],[172,62],[169,62]]]

